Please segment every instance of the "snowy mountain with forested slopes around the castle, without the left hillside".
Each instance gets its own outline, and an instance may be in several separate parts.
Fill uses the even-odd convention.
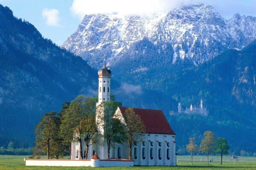
[[[177,129],[179,149],[190,136],[200,142],[204,131],[212,130],[239,154],[253,151],[250,141],[256,140],[255,32],[256,17],[225,19],[212,6],[196,3],[150,16],[85,15],[61,47],[96,69],[107,54],[113,79],[162,94],[149,94],[154,100],[148,103],[157,101],[150,108],[162,109]],[[169,116],[178,102],[189,107],[201,98],[208,117]]]

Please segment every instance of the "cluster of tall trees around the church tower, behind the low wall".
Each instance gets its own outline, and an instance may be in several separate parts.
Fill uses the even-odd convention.
[[[140,116],[135,114],[133,108],[127,108],[125,123],[120,122],[121,113],[116,113],[116,109],[122,103],[111,96],[110,102],[102,102],[96,108],[96,101],[96,98],[79,95],[72,102],[65,102],[60,113],[46,113],[35,129],[33,157],[40,158],[46,154],[48,159],[59,159],[67,153],[71,154],[72,142],[79,142],[80,159],[87,159],[89,146],[95,143],[107,145],[108,159],[114,144],[125,144],[131,159],[131,150],[145,133]],[[85,143],[84,157],[82,142]]]

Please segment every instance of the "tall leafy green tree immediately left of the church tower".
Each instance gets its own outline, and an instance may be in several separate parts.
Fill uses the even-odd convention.
[[[83,159],[82,140],[86,145],[86,159],[88,147],[96,141],[91,142],[97,130],[95,112],[95,99],[79,95],[70,103],[61,121],[61,133],[65,136],[66,142],[79,142],[80,159]]]

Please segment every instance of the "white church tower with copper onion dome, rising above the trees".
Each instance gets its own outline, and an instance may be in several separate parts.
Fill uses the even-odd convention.
[[[106,67],[106,58],[104,57],[103,68],[98,71],[99,75],[99,101],[97,105],[101,102],[110,101],[110,81],[111,81],[111,71]]]

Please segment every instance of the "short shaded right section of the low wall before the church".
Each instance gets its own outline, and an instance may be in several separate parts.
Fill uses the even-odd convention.
[[[131,160],[100,160],[101,167],[133,167],[134,161]]]

